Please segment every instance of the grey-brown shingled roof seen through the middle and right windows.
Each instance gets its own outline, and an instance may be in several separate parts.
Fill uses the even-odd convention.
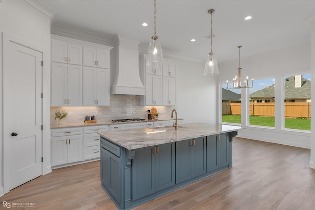
[[[275,84],[250,94],[250,98],[273,98],[275,97]],[[295,76],[285,79],[285,99],[308,99],[311,98],[311,81],[302,78],[302,86],[295,88]]]

